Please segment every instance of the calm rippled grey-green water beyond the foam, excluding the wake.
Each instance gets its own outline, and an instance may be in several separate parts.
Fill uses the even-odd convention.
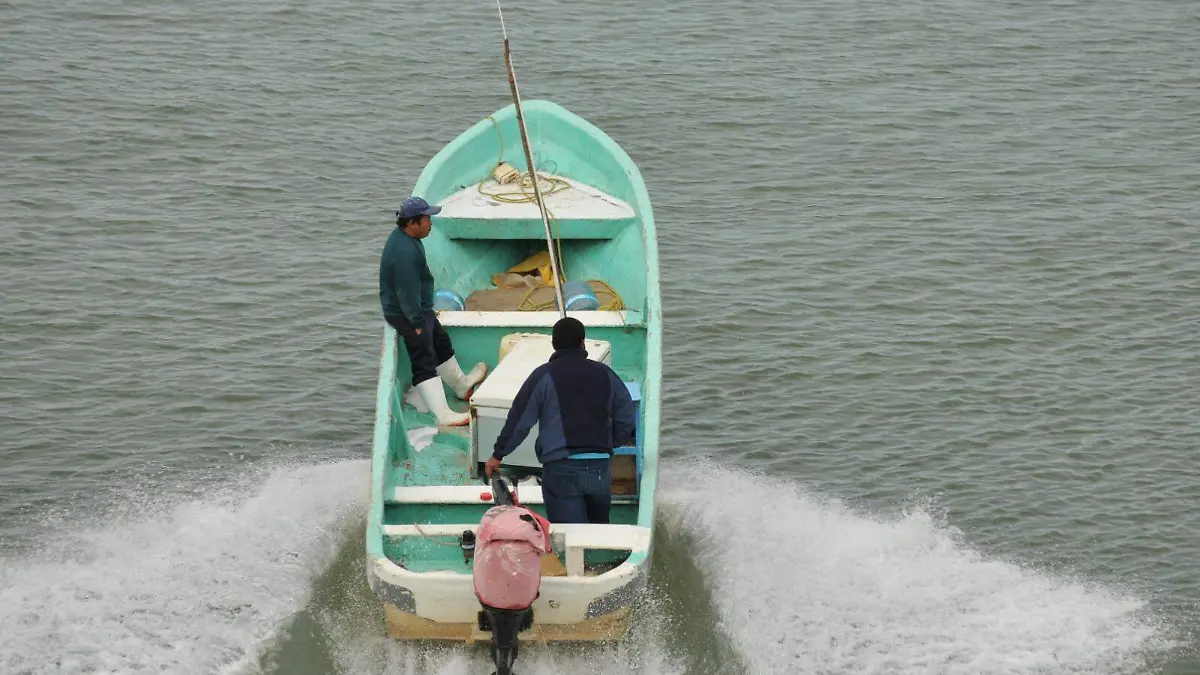
[[[0,8],[4,545],[146,461],[367,446],[388,215],[508,102],[491,12]],[[1200,627],[1195,6],[505,12],[650,186],[670,454],[934,498]]]

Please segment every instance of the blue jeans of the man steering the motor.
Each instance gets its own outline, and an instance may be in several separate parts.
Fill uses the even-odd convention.
[[[612,472],[607,459],[560,459],[541,467],[541,496],[551,522],[608,524]]]

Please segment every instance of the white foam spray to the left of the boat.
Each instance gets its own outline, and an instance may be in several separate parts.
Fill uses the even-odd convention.
[[[308,601],[361,522],[368,465],[277,468],[223,496],[47,532],[0,561],[0,673],[233,673]]]

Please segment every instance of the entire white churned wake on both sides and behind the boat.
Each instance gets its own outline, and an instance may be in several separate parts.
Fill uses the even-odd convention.
[[[928,512],[880,521],[782,479],[665,468],[654,583],[631,637],[523,645],[518,673],[1122,675],[1172,646],[1138,597],[988,560]],[[491,673],[484,649],[383,635],[346,548],[362,532],[367,473],[366,461],[284,467],[203,500],[144,497],[142,516],[0,560],[0,673],[259,671],[265,652],[289,650],[280,635],[305,608],[340,673]],[[340,567],[350,590],[326,592],[361,597],[314,598]]]

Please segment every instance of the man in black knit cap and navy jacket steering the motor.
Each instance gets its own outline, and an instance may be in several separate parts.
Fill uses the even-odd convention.
[[[551,522],[608,522],[612,449],[632,444],[637,428],[625,383],[588,358],[583,339],[580,319],[554,324],[554,353],[521,386],[485,465],[491,476],[536,423],[534,450]]]

